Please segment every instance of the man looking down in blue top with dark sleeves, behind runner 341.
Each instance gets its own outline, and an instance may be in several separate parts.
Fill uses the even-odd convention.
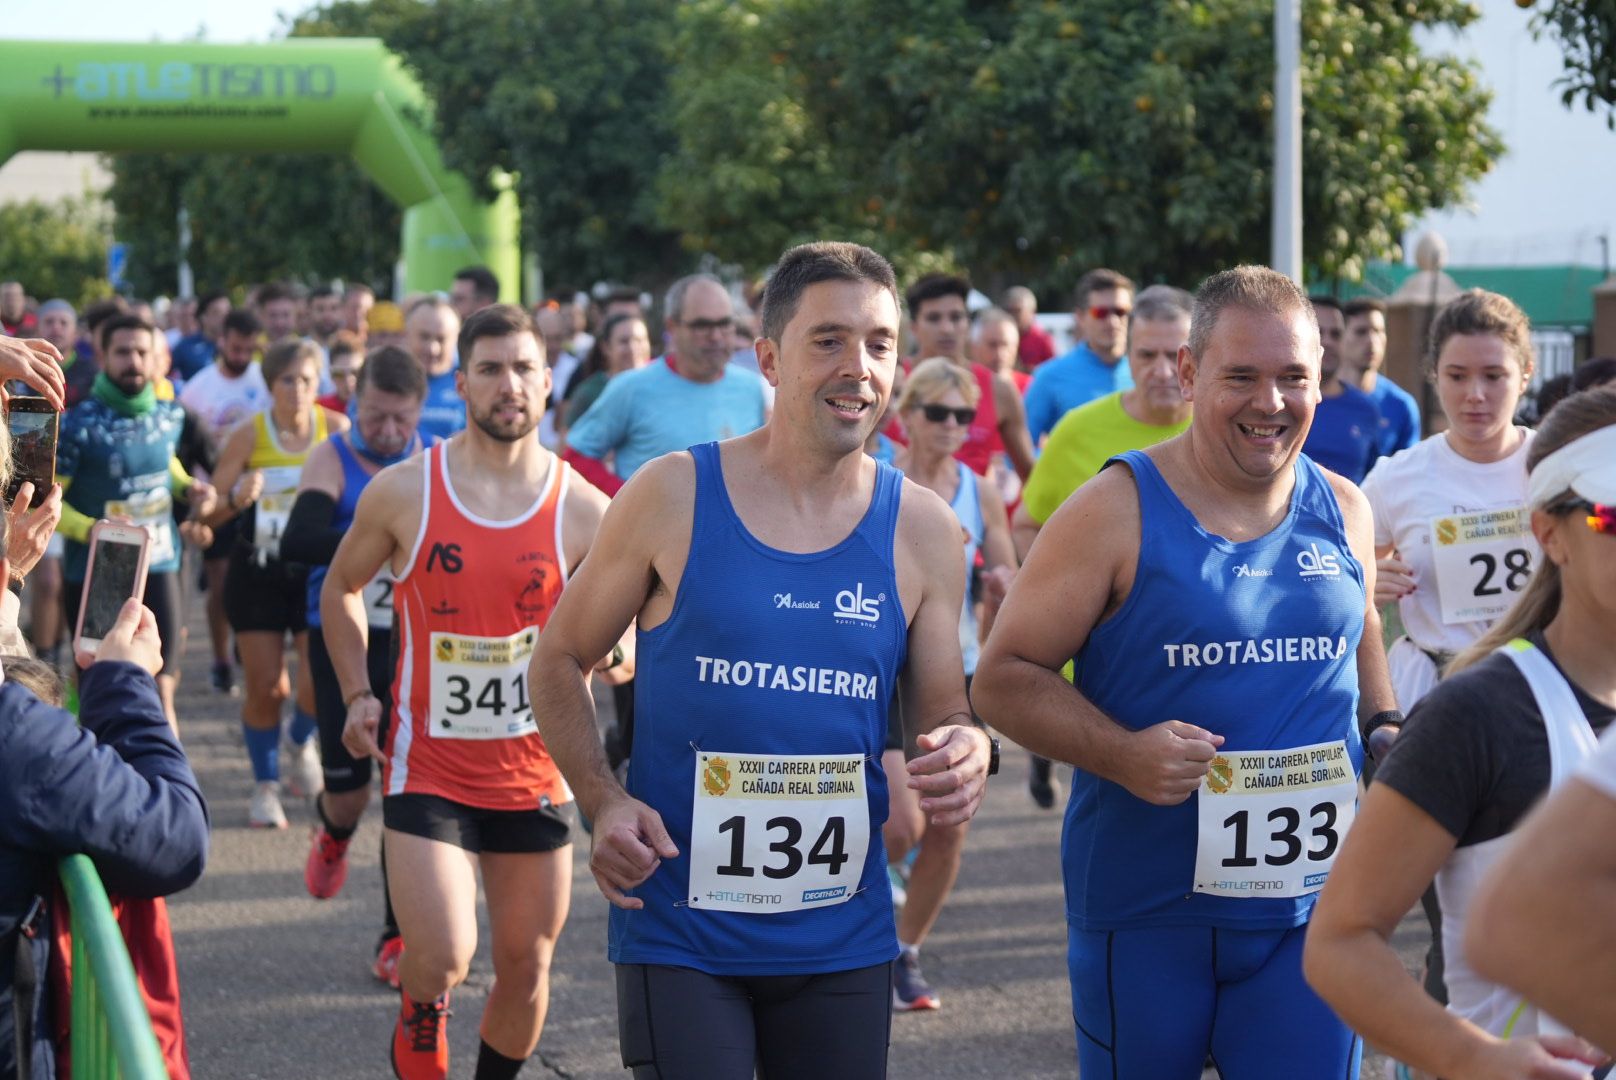
[[[314,676],[315,719],[320,724],[320,765],[325,791],[315,799],[320,828],[304,867],[304,886],[315,899],[341,892],[347,880],[347,846],[359,818],[370,802],[370,758],[354,757],[343,745],[347,710],[336,669],[326,652],[320,622],[320,589],[326,567],[343,535],[354,522],[359,496],[385,467],[398,464],[425,446],[430,435],[417,432],[420,406],[427,398],[427,372],[398,346],[383,346],[357,372],[352,427],[309,451],[297,501],[281,537],[281,555],[309,567],[309,671]],[[393,710],[393,574],[383,567],[364,589],[370,626],[367,664],[370,686],[381,703],[381,715]],[[375,975],[398,986],[402,952],[398,918],[386,892],[383,870],[383,930],[375,949]]]

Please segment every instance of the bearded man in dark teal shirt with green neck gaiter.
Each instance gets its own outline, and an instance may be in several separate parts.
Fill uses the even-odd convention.
[[[186,414],[178,403],[157,399],[157,333],[133,312],[100,325],[102,372],[90,398],[61,417],[57,480],[63,501],[57,532],[66,538],[63,600],[69,627],[79,621],[94,524],[110,517],[150,535],[144,600],[163,642],[157,690],[165,715],[175,721],[184,613],[181,529],[173,508],[178,498],[191,503],[192,513],[205,514],[213,508],[213,488],[194,480],[176,458]],[[187,525],[186,534],[192,529]]]

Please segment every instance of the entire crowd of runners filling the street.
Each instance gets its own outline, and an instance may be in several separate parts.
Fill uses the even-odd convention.
[[[656,304],[444,286],[0,285],[0,375],[63,409],[32,650],[74,668],[90,529],[142,525],[170,724],[205,601],[246,823],[307,825],[310,897],[380,787],[378,938],[331,960],[399,991],[378,1074],[449,1075],[478,884],[469,1075],[522,1070],[583,842],[635,1077],[886,1075],[894,1014],[947,996],[921,952],[999,734],[1018,797],[1065,797],[1083,1077],[1356,1077],[1366,1040],[1396,1075],[1601,1069],[1611,912],[1509,875],[1616,888],[1579,854],[1616,813],[1616,361],[1548,407],[1472,289],[1422,422],[1382,302],[1260,267],[1092,270],[1065,351],[1028,289],[900,291],[842,243]]]

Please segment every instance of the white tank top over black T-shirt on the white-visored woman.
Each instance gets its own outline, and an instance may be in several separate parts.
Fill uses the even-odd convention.
[[[1598,740],[1589,726],[1571,684],[1559,674],[1553,661],[1530,642],[1516,639],[1498,650],[1521,669],[1537,711],[1543,716],[1548,734],[1548,787],[1553,791],[1568,776],[1593,757]],[[1464,956],[1464,925],[1469,922],[1471,901],[1482,878],[1503,855],[1511,836],[1498,836],[1483,844],[1456,847],[1448,862],[1437,871],[1437,901],[1441,904],[1441,946],[1446,952],[1443,981],[1448,985],[1448,1010],[1501,1038],[1529,1035],[1564,1035],[1564,1025],[1540,1014],[1519,994],[1488,983],[1471,968]]]

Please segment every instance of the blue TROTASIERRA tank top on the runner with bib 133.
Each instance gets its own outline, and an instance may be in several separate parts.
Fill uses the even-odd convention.
[[[1298,456],[1285,521],[1264,537],[1233,543],[1201,527],[1144,451],[1107,466],[1117,461],[1131,469],[1139,491],[1139,566],[1122,608],[1075,656],[1076,687],[1125,728],[1181,719],[1223,736],[1218,757],[1236,770],[1243,760],[1285,761],[1278,753],[1241,758],[1241,752],[1345,742],[1356,778],[1364,571],[1324,472]],[[1209,804],[1212,818],[1236,805],[1227,794],[1209,795],[1204,784],[1176,807],[1155,807],[1078,770],[1062,837],[1067,917],[1081,930],[1280,930],[1307,922],[1317,891],[1294,897],[1197,891],[1202,799],[1230,799]],[[1335,850],[1338,834],[1314,834],[1333,816],[1302,821],[1299,839]],[[1259,813],[1246,823],[1246,850],[1262,859],[1285,852],[1283,842],[1270,846],[1270,821]],[[1314,876],[1311,884],[1322,884],[1322,875]]]

